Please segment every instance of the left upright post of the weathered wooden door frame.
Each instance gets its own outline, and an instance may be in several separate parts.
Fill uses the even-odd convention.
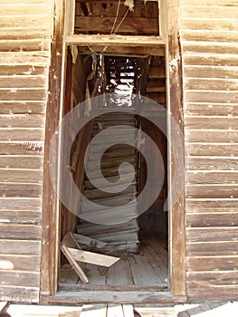
[[[57,290],[58,254],[59,254],[59,211],[57,195],[52,187],[50,175],[50,148],[52,135],[58,127],[61,104],[62,84],[62,48],[64,29],[63,1],[55,1],[52,29],[52,60],[49,72],[49,91],[44,143],[43,164],[43,216],[42,216],[42,263],[41,263],[41,293],[52,294]],[[57,81],[55,80],[57,78]]]

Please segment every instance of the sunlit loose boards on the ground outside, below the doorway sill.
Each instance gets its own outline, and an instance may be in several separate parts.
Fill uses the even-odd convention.
[[[1,317],[64,316],[64,317],[236,317],[238,302],[206,302],[152,306],[148,304],[84,304],[81,306],[50,306],[9,304]]]

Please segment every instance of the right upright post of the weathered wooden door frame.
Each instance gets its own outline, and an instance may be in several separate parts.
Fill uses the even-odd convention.
[[[173,120],[180,130],[184,130],[183,118],[183,94],[182,94],[182,58],[179,37],[179,0],[171,0],[167,2],[167,78],[168,78],[168,100],[169,113],[172,113]],[[168,121],[169,124],[169,121]],[[184,140],[178,141],[176,131],[170,130],[170,140],[172,149],[176,149],[176,153],[169,153],[168,172],[169,187],[173,193],[173,187],[181,187],[185,179],[184,164],[179,165],[179,161],[184,162],[185,145]],[[175,158],[179,158],[174,161]],[[175,183],[173,175],[179,170],[179,184]],[[183,187],[185,185],[183,184]],[[173,199],[173,197],[172,197]],[[186,224],[185,224],[185,194],[184,192],[174,202],[174,206],[170,210],[170,276],[171,291],[175,296],[186,295]]]

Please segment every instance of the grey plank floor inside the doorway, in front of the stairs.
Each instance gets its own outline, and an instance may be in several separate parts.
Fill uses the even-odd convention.
[[[60,290],[76,289],[146,289],[167,290],[167,245],[156,238],[140,243],[137,255],[123,255],[108,269],[87,264],[90,283],[82,283],[69,264],[62,266]]]

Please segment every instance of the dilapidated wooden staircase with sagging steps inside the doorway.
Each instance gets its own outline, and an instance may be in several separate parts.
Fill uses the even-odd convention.
[[[137,127],[137,120],[130,113],[107,113],[100,115],[94,120],[92,137],[96,136],[100,131],[112,127],[114,125]],[[115,140],[117,143],[117,133],[110,133],[107,139],[103,139],[103,145],[107,140]],[[101,173],[111,185],[115,187],[115,181],[119,180],[119,165],[123,162],[129,162],[135,172],[124,175],[124,184],[118,185],[127,188],[119,193],[107,192],[108,187],[94,187],[90,180],[85,176],[84,180],[84,197],[98,204],[94,210],[91,210],[87,204],[81,204],[81,224],[77,226],[77,231],[81,235],[87,235],[106,242],[107,245],[103,251],[107,253],[136,253],[138,250],[138,214],[137,204],[133,199],[138,195],[138,153],[136,150],[137,134],[131,133],[127,127],[121,128],[120,136],[123,136],[125,142],[130,141],[135,144],[135,148],[127,144],[116,144],[110,147],[101,159]],[[87,169],[92,172],[92,179],[100,181],[99,173],[94,172],[96,153],[100,149],[100,141],[96,145],[90,145],[89,156],[87,159]],[[130,179],[133,178],[132,183]],[[99,182],[100,183],[100,182]],[[125,207],[126,204],[127,207]],[[105,207],[112,207],[111,212]],[[93,212],[97,223],[89,223],[83,220],[87,213]],[[99,221],[100,220],[100,221]],[[110,225],[104,225],[110,222]]]

